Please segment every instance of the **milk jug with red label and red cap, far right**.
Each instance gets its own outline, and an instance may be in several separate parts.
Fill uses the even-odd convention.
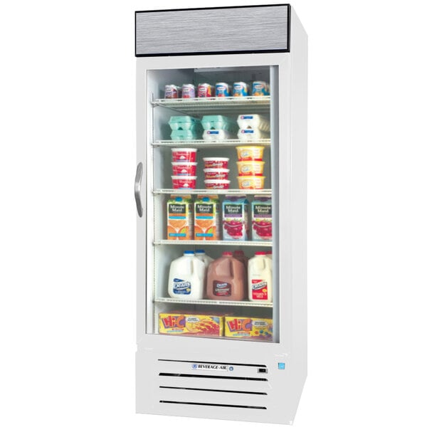
[[[271,260],[265,252],[255,252],[248,263],[248,292],[250,301],[273,301],[273,275]]]

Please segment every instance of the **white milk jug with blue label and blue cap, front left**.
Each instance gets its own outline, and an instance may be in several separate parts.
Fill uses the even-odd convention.
[[[206,267],[193,251],[184,251],[184,256],[176,258],[169,269],[168,291],[172,298],[181,300],[201,300],[204,294]]]

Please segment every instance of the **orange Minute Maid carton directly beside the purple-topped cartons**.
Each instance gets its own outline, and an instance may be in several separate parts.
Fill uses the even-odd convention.
[[[219,240],[218,196],[204,196],[199,194],[194,201],[194,240]]]

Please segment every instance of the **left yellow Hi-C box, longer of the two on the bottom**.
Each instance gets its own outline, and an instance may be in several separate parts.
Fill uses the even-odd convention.
[[[159,334],[222,337],[222,315],[191,315],[182,312],[160,313]]]

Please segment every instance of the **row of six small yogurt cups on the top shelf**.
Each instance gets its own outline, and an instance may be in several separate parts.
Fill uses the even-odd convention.
[[[251,85],[246,82],[218,82],[215,85],[200,83],[197,88],[192,83],[181,86],[168,84],[164,86],[165,99],[188,99],[194,97],[245,97],[270,95],[270,85],[262,80],[255,80]]]

